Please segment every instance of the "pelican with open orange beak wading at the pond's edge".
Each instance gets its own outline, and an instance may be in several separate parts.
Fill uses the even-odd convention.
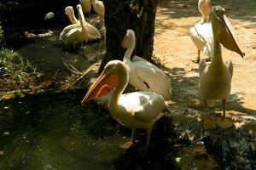
[[[160,94],[151,92],[122,94],[128,79],[129,67],[119,60],[109,61],[102,74],[90,87],[82,104],[108,94],[113,89],[108,105],[110,115],[123,126],[132,129],[131,144],[135,141],[136,129],[146,129],[148,145],[154,122],[163,116],[161,111],[165,107],[165,100]]]

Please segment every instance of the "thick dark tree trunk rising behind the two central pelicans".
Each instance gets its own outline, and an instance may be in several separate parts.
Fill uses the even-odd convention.
[[[120,43],[127,29],[135,31],[137,41],[133,55],[151,61],[154,43],[154,19],[158,0],[104,0],[106,54],[99,72],[108,61],[123,60],[125,48]]]

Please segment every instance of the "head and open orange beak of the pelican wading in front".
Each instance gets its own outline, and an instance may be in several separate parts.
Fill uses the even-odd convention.
[[[84,104],[90,99],[99,98],[113,89],[125,88],[128,83],[128,72],[129,68],[122,61],[109,61],[81,103]]]

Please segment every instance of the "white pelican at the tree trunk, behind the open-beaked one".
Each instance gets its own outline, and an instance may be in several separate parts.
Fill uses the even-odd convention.
[[[129,83],[141,91],[154,92],[161,94],[165,99],[170,99],[171,81],[166,74],[143,58],[134,56],[131,60],[135,41],[134,31],[127,30],[122,47],[127,48],[123,61],[130,68]]]

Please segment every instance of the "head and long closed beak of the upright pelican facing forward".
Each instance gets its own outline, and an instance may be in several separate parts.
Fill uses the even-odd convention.
[[[228,48],[243,57],[245,54],[241,52],[241,46],[230,21],[225,15],[225,9],[221,6],[212,7],[210,20],[212,21],[212,32],[215,40],[221,42],[225,48]]]

